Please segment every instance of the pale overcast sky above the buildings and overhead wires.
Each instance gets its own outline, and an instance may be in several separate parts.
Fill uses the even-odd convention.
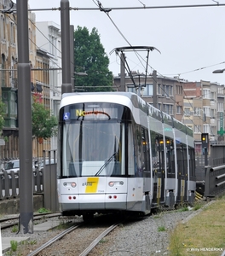
[[[75,29],[85,26],[89,32],[94,27],[97,29],[113,75],[120,73],[120,59],[113,49],[153,46],[160,53],[156,49],[150,52],[148,73],[156,70],[159,75],[190,82],[225,84],[225,72],[212,73],[225,68],[225,0],[100,0],[104,9],[112,8],[108,15],[97,9],[97,2],[70,0],[70,7],[78,8],[70,11],[70,24]],[[48,10],[59,8],[61,1],[29,0],[28,3],[30,9],[38,9],[33,11],[36,21],[54,21],[61,25],[60,11]],[[214,6],[172,8],[178,5]],[[155,8],[144,9],[144,6]],[[130,70],[145,73],[147,51],[125,55]]]

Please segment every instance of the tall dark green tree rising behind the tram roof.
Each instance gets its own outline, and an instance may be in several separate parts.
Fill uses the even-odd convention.
[[[74,32],[74,63],[75,73],[88,74],[85,77],[74,75],[76,91],[80,91],[81,87],[85,91],[112,90],[113,73],[108,69],[109,58],[95,27],[89,33],[85,26],[78,26]]]

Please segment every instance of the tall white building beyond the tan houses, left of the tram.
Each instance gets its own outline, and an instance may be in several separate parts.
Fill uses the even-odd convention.
[[[36,44],[38,51],[42,51],[49,60],[48,68],[40,68],[43,73],[49,76],[47,84],[43,84],[43,97],[48,98],[48,103],[44,103],[56,117],[59,113],[61,101],[61,32],[60,26],[52,21],[36,22]],[[39,71],[38,73],[41,73]],[[46,90],[46,93],[45,93]],[[51,137],[44,141],[45,149],[57,148],[57,137]],[[47,146],[47,144],[50,144]]]

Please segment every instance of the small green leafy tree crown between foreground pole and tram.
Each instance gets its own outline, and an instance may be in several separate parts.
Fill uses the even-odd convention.
[[[56,134],[57,119],[50,115],[50,111],[45,109],[43,104],[32,103],[32,135],[47,139]]]

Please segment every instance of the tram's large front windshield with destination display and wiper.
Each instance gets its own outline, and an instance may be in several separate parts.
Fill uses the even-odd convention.
[[[125,124],[129,108],[79,103],[61,109],[61,177],[125,174]]]

